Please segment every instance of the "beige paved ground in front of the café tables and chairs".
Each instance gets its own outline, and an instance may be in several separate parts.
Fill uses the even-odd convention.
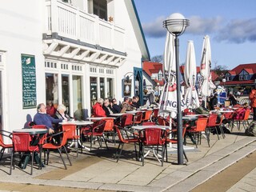
[[[186,151],[189,158],[186,165],[177,165],[177,154],[170,151],[164,166],[152,153],[146,158],[145,166],[142,166],[142,162],[135,160],[132,146],[125,147],[117,163],[113,157],[118,145],[112,143],[109,143],[110,150],[103,146],[90,153],[83,151],[78,158],[74,157],[75,153],[71,153],[74,155],[71,158],[73,166],[68,166],[67,170],[63,169],[58,154],[53,153],[49,166],[42,170],[34,166],[33,176],[28,174],[30,166],[26,170],[16,167],[13,174],[9,175],[10,162],[6,159],[6,162],[0,164],[0,190],[254,191],[256,162],[251,159],[256,156],[256,138],[246,137],[241,132],[234,130],[232,134],[226,134],[225,139],[221,137],[219,140],[216,135],[210,135],[210,147],[206,139],[202,139],[198,149]],[[188,143],[187,146],[193,145]],[[250,163],[246,162],[249,160]],[[249,168],[245,165],[252,166]],[[222,186],[220,183],[226,183],[227,178],[232,176],[237,179],[229,182],[226,188],[218,188]],[[214,179],[217,179],[215,184]],[[218,182],[218,179],[223,182]],[[202,190],[210,187],[206,186],[207,183],[215,187]]]

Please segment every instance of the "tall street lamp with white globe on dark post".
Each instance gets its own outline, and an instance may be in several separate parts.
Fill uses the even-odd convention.
[[[182,141],[182,110],[181,110],[181,84],[179,73],[179,40],[178,36],[182,35],[186,30],[186,27],[190,25],[190,21],[182,14],[171,14],[166,21],[163,22],[163,26],[174,35],[175,46],[175,60],[176,60],[176,82],[177,82],[177,137],[178,137],[178,165],[183,165],[183,141]]]

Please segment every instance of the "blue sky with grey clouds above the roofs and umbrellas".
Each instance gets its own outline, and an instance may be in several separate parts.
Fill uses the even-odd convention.
[[[194,42],[197,66],[202,42],[210,36],[212,68],[232,70],[239,64],[256,63],[255,0],[134,0],[150,51],[150,57],[162,55],[166,29],[162,22],[170,14],[180,13],[190,26],[179,36],[180,64],[186,61],[187,42]]]

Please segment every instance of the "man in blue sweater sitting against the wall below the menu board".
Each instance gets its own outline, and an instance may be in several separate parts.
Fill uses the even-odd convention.
[[[49,114],[46,114],[46,105],[44,103],[38,104],[37,110],[38,113],[34,115],[34,123],[37,125],[45,125],[49,134],[54,134],[53,124],[62,122],[62,119],[52,118]]]

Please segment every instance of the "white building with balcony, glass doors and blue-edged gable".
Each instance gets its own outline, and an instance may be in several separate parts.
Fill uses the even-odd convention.
[[[99,97],[122,101],[128,72],[128,95],[142,97],[150,55],[133,0],[2,0],[0,23],[3,130],[25,126],[47,99],[70,115]]]

